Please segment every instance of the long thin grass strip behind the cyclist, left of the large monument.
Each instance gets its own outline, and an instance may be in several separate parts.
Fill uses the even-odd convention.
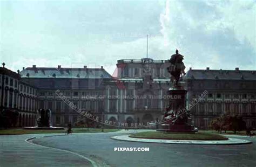
[[[102,132],[102,129],[94,128],[72,128],[73,133],[99,133]],[[119,129],[104,129],[104,132],[114,132]],[[27,129],[4,129],[0,130],[0,135],[22,135],[22,134],[64,134],[65,130],[27,130]]]

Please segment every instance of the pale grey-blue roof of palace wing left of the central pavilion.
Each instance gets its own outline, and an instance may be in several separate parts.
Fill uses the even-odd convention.
[[[48,68],[27,67],[19,74],[22,78],[76,78],[76,79],[111,79],[104,68]]]

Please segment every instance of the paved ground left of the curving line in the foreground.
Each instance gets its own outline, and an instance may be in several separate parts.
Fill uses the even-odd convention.
[[[1,135],[0,166],[91,166],[90,162],[68,152],[25,142],[33,136],[42,135]]]

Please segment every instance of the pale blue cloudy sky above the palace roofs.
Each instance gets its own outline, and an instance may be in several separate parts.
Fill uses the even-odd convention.
[[[0,60],[22,67],[104,66],[169,59],[186,70],[256,70],[256,0],[0,1]]]

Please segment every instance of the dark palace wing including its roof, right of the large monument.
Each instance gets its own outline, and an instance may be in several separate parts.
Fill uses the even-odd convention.
[[[256,127],[256,71],[192,69],[186,74],[188,102],[204,91],[207,95],[191,109],[199,129],[224,113],[240,115],[247,127]]]

